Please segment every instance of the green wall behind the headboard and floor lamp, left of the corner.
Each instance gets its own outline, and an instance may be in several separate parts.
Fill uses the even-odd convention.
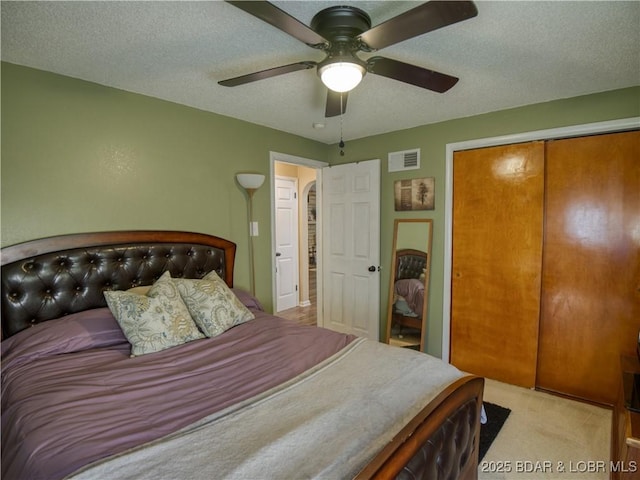
[[[235,174],[269,175],[269,151],[324,160],[327,145],[122,90],[2,63],[2,245],[50,235],[163,229],[238,244],[248,221]],[[271,308],[269,189],[255,194],[257,296]]]

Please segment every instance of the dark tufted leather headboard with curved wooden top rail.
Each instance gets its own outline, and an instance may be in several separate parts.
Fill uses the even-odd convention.
[[[233,287],[235,243],[175,231],[62,235],[2,249],[2,338],[29,326],[106,306],[104,290],[151,285],[165,271]]]

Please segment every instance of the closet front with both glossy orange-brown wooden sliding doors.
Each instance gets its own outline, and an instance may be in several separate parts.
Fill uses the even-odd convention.
[[[640,132],[456,152],[451,362],[612,404],[640,329]]]

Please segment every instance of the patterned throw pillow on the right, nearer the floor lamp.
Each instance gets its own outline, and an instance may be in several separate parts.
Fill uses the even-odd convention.
[[[174,278],[173,282],[193,321],[207,337],[215,337],[255,318],[214,271],[202,280]]]

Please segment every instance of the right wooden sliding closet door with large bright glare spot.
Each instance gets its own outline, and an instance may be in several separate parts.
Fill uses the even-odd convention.
[[[640,132],[547,144],[537,386],[613,403],[640,329]]]

